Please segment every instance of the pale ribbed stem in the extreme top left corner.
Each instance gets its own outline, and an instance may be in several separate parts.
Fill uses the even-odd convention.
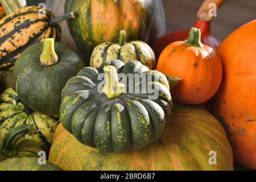
[[[6,14],[11,14],[26,6],[26,0],[0,0]]]

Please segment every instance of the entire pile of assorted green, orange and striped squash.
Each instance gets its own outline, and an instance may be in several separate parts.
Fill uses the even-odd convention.
[[[0,20],[0,71],[16,83],[0,96],[0,170],[256,169],[256,20],[217,51],[191,28],[156,60],[160,1],[67,0],[65,11]],[[60,42],[64,19],[80,52]]]

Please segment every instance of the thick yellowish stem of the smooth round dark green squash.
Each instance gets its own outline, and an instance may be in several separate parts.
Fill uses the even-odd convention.
[[[43,65],[53,65],[56,64],[58,61],[58,56],[54,49],[54,39],[45,39],[44,40],[44,46],[43,46],[43,52],[40,56],[40,62]]]

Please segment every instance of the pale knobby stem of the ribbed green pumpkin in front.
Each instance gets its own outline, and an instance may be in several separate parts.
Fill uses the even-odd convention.
[[[103,86],[102,92],[106,94],[109,99],[121,96],[125,93],[126,86],[118,82],[117,69],[112,65],[104,67],[106,75],[106,85]]]

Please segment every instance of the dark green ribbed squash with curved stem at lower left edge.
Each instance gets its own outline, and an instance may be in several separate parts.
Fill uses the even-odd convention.
[[[0,162],[10,158],[38,157],[43,148],[34,140],[24,138],[35,133],[34,127],[24,124],[11,129],[5,138],[0,136]]]

